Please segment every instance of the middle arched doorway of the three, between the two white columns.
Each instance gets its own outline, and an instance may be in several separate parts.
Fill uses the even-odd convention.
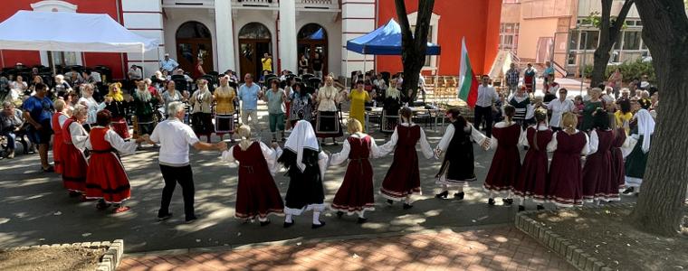
[[[263,72],[261,58],[266,52],[272,54],[270,30],[263,23],[244,25],[239,31],[239,69],[242,79],[246,73],[252,73],[253,78],[260,78]],[[274,61],[274,56],[272,60]]]

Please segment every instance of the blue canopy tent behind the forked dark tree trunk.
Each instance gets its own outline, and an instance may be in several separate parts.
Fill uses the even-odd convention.
[[[347,50],[356,51],[363,55],[401,55],[401,26],[394,19],[390,19],[387,24],[377,28],[375,31],[349,40],[347,42]],[[425,54],[440,55],[440,46],[428,42]],[[366,62],[364,59],[364,72],[366,70]]]

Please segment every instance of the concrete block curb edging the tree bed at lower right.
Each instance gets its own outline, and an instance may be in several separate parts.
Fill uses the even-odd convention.
[[[572,208],[570,210],[590,210],[590,209],[598,209],[598,208],[625,209],[628,207],[632,207],[634,205],[635,205],[635,203],[633,203],[633,202],[614,203],[614,204],[605,204],[602,207],[600,207],[600,206],[582,206],[582,207]],[[516,229],[521,229],[521,231],[523,231],[525,234],[527,234],[531,238],[538,240],[538,242],[540,242],[540,244],[542,244],[546,248],[549,248],[552,251],[559,254],[560,257],[563,257],[564,259],[566,259],[566,261],[569,262],[569,264],[576,267],[578,270],[581,270],[581,271],[611,271],[611,270],[615,270],[614,268],[607,266],[604,262],[600,261],[596,257],[592,257],[591,255],[586,253],[583,249],[578,248],[578,246],[575,245],[576,242],[574,240],[562,238],[558,234],[554,233],[551,229],[545,228],[538,221],[530,219],[530,217],[528,217],[530,214],[539,213],[539,212],[549,212],[549,213],[554,214],[554,213],[558,212],[558,210],[544,210],[544,211],[530,210],[530,211],[520,212],[520,213],[516,214],[516,220],[514,221],[514,223],[516,225]]]

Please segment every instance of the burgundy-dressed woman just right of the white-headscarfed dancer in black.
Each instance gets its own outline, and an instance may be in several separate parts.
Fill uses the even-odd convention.
[[[358,223],[365,223],[366,210],[375,210],[373,194],[373,166],[369,158],[377,158],[380,151],[372,136],[363,134],[363,126],[357,119],[349,119],[347,123],[349,138],[344,141],[341,152],[332,154],[330,164],[337,165],[349,160],[344,181],[334,196],[331,208],[337,210],[341,218],[346,211],[349,215],[358,214]]]

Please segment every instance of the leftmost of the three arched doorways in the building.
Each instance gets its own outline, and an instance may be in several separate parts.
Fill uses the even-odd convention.
[[[182,23],[177,29],[177,62],[184,71],[193,73],[198,59],[203,60],[203,70],[213,70],[213,39],[203,23]]]

